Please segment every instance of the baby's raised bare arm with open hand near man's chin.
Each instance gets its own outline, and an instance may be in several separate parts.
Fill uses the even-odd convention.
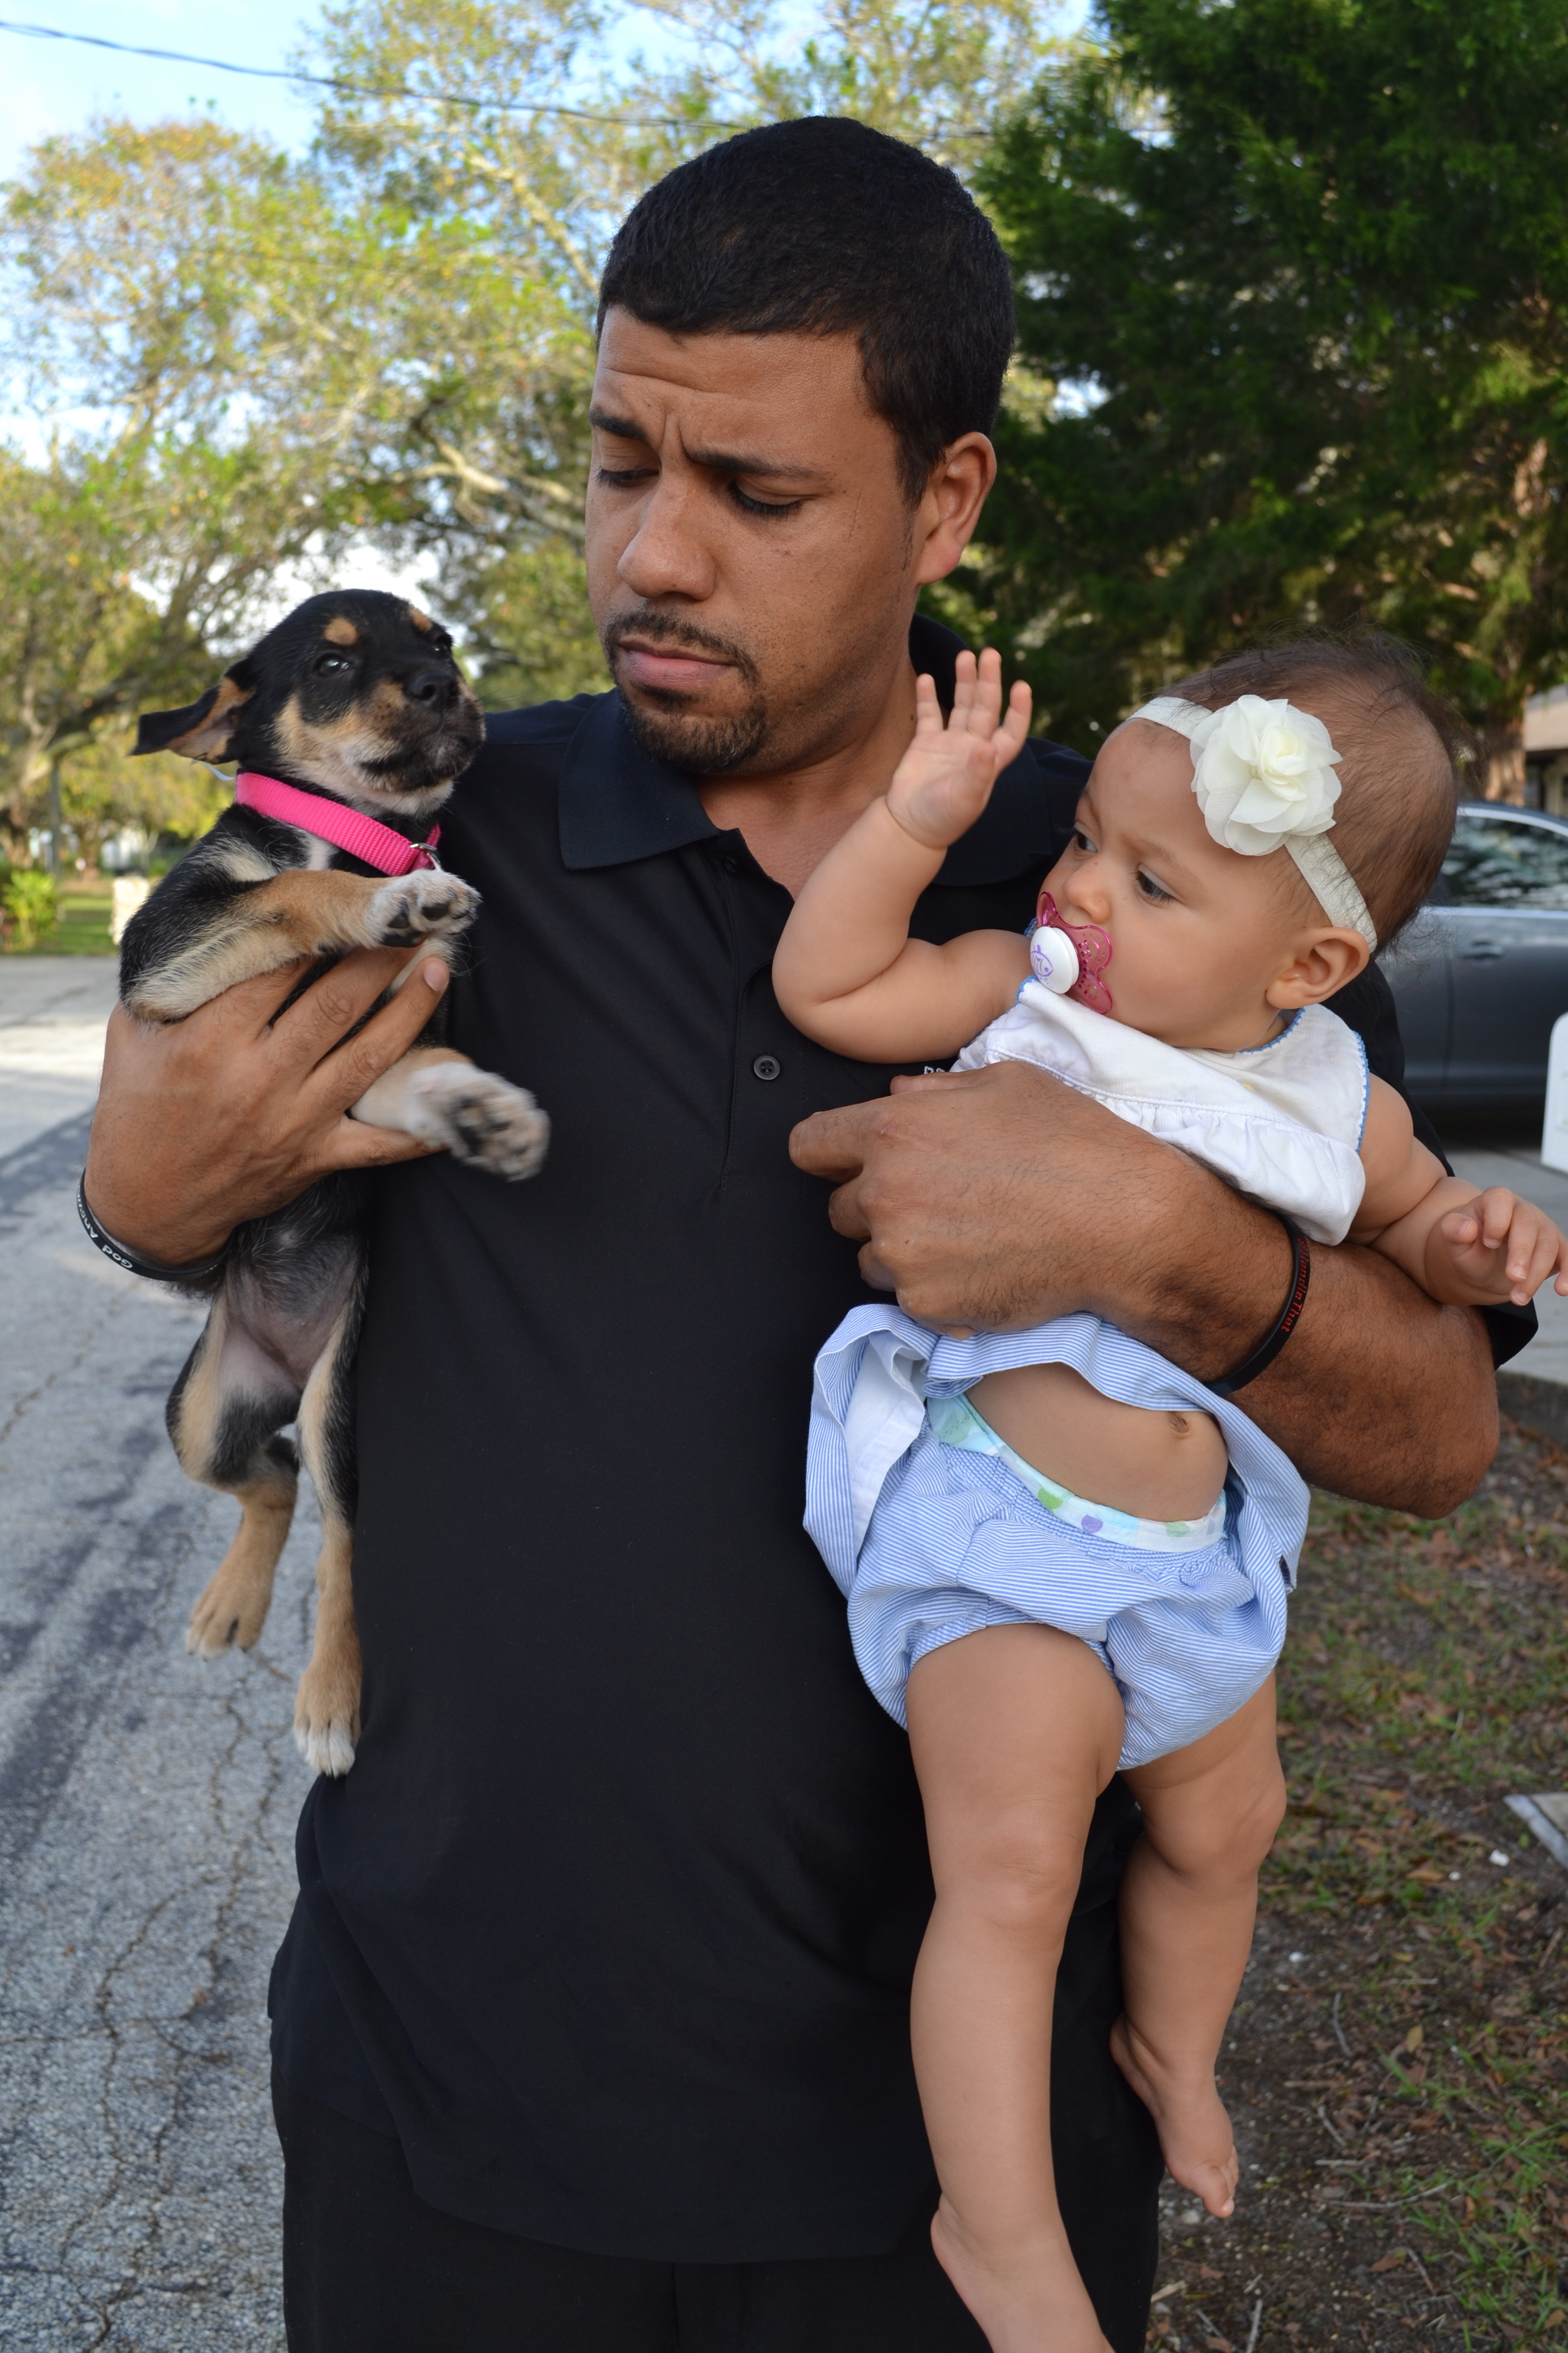
[[[1013,932],[966,932],[933,948],[910,939],[910,915],[969,833],[1030,732],[1030,689],[1001,715],[1001,659],[959,654],[952,720],[943,727],[931,678],[914,687],[914,741],[884,800],[875,800],[820,861],[773,955],[773,995],[818,1045],[856,1061],[957,1054],[1030,976]]]

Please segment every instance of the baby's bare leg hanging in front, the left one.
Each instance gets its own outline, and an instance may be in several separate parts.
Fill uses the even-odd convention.
[[[936,1908],[912,1998],[936,2254],[992,2353],[1107,2353],[1051,2172],[1051,1995],[1121,1701],[1053,1626],[926,1652],[907,1689]]]

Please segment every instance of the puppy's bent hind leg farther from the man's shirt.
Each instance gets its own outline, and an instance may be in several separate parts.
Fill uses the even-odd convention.
[[[296,1407],[296,1381],[254,1344],[228,1292],[219,1292],[167,1405],[186,1478],[240,1504],[235,1541],[186,1628],[186,1649],[202,1659],[249,1649],[266,1624],[299,1487],[294,1447],[277,1433]]]

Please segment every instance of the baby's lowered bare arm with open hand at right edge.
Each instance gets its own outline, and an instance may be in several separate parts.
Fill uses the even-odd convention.
[[[1486,1193],[1418,1144],[1410,1106],[1371,1080],[1361,1136],[1366,1193],[1352,1242],[1380,1249],[1443,1306],[1526,1306],[1556,1275],[1568,1294],[1568,1242],[1552,1219],[1502,1186]]]

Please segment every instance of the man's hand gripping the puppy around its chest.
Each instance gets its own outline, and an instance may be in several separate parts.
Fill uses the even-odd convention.
[[[360,948],[277,1019],[306,962],[240,981],[162,1028],[115,1007],[87,1153],[87,1200],[99,1224],[162,1266],[193,1266],[247,1217],[280,1209],[329,1169],[428,1153],[414,1136],[350,1120],[348,1106],[428,1024],[447,988],[440,958],[425,955],[393,1002],[343,1045],[418,953]]]

